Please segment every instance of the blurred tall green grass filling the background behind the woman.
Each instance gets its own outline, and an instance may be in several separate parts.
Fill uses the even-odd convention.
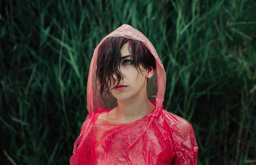
[[[166,69],[198,165],[256,164],[255,0],[1,0],[0,164],[69,164],[93,50],[122,24]]]

